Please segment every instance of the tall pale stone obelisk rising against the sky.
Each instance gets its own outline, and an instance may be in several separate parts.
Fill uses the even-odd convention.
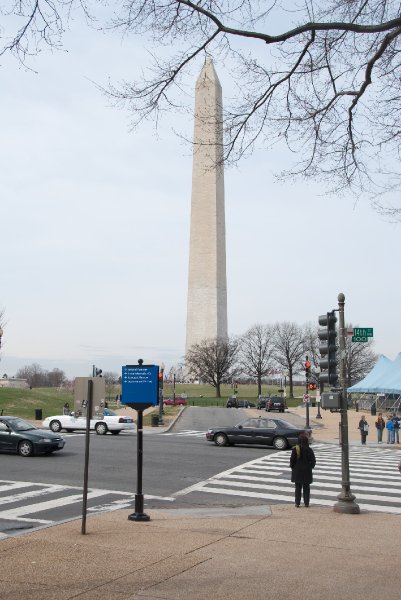
[[[222,92],[211,59],[196,82],[186,350],[227,338]]]

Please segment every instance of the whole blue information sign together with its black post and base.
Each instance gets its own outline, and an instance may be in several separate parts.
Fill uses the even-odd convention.
[[[130,406],[138,413],[135,512],[128,515],[128,519],[130,521],[150,521],[149,515],[143,512],[143,411],[158,404],[159,367],[157,365],[144,365],[143,360],[139,359],[137,365],[126,365],[122,371],[121,403]]]

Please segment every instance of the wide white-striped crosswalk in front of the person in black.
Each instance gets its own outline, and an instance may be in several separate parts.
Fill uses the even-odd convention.
[[[341,449],[314,444],[311,504],[333,506],[341,491]],[[175,496],[191,492],[242,496],[275,503],[294,502],[289,452],[277,452],[229,469],[196,483]],[[391,449],[350,447],[351,490],[362,510],[401,515],[401,452]]]

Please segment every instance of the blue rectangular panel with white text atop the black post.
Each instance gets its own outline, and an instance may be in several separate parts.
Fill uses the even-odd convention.
[[[156,406],[159,404],[159,367],[126,365],[122,374],[121,404]]]

